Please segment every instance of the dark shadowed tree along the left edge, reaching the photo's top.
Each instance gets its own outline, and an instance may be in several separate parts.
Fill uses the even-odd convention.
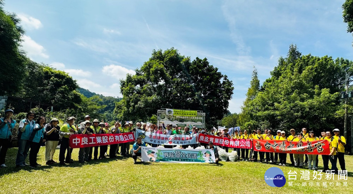
[[[0,0],[0,96],[13,95],[24,78],[24,52],[20,49],[24,30],[14,13],[4,11]]]

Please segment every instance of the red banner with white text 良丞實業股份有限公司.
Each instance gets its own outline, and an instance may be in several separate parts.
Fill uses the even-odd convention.
[[[246,148],[251,149],[251,140],[250,139],[229,139],[222,138],[213,135],[199,134],[198,141],[200,143],[208,144],[210,141],[213,142],[213,145],[217,146],[226,146],[232,148]]]

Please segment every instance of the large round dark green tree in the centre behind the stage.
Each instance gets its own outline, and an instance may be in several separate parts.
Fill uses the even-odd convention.
[[[148,120],[160,108],[202,110],[208,127],[228,112],[233,84],[207,59],[191,61],[171,48],[153,50],[135,75],[120,81],[123,98],[114,113],[121,120]]]

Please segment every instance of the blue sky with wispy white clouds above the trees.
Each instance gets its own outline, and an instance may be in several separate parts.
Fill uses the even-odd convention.
[[[291,43],[305,55],[353,59],[343,2],[6,0],[5,10],[22,19],[32,60],[68,72],[85,89],[121,97],[119,79],[153,49],[174,47],[191,59],[207,57],[228,75],[228,109],[239,113],[253,66],[262,83]]]

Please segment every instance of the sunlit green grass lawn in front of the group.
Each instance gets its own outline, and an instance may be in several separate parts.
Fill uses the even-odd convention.
[[[337,180],[337,175],[334,180],[326,180],[325,174],[321,180],[313,180],[310,171],[310,180],[306,181],[300,180],[300,170],[304,169],[258,162],[134,165],[132,158],[119,157],[80,164],[78,149],[72,152],[73,164],[48,166],[44,160],[45,147],[38,153],[38,163],[42,166],[16,168],[16,153],[17,148],[10,148],[6,158],[8,167],[0,169],[2,193],[352,193],[353,189],[353,156],[345,156],[348,180]],[[59,150],[56,150],[54,160],[57,162],[58,157]],[[264,181],[265,171],[273,166],[282,169],[287,179],[281,188],[270,187]],[[322,169],[321,156],[319,168]],[[289,170],[298,173],[297,180],[288,180]],[[289,181],[293,181],[293,187],[288,186]],[[307,186],[302,186],[302,182]],[[310,182],[313,186],[309,186]],[[319,187],[316,182],[320,183]],[[327,188],[323,187],[323,182],[327,182]],[[330,182],[334,186],[330,186]],[[337,182],[341,186],[336,186]],[[343,182],[347,182],[347,187]]]

